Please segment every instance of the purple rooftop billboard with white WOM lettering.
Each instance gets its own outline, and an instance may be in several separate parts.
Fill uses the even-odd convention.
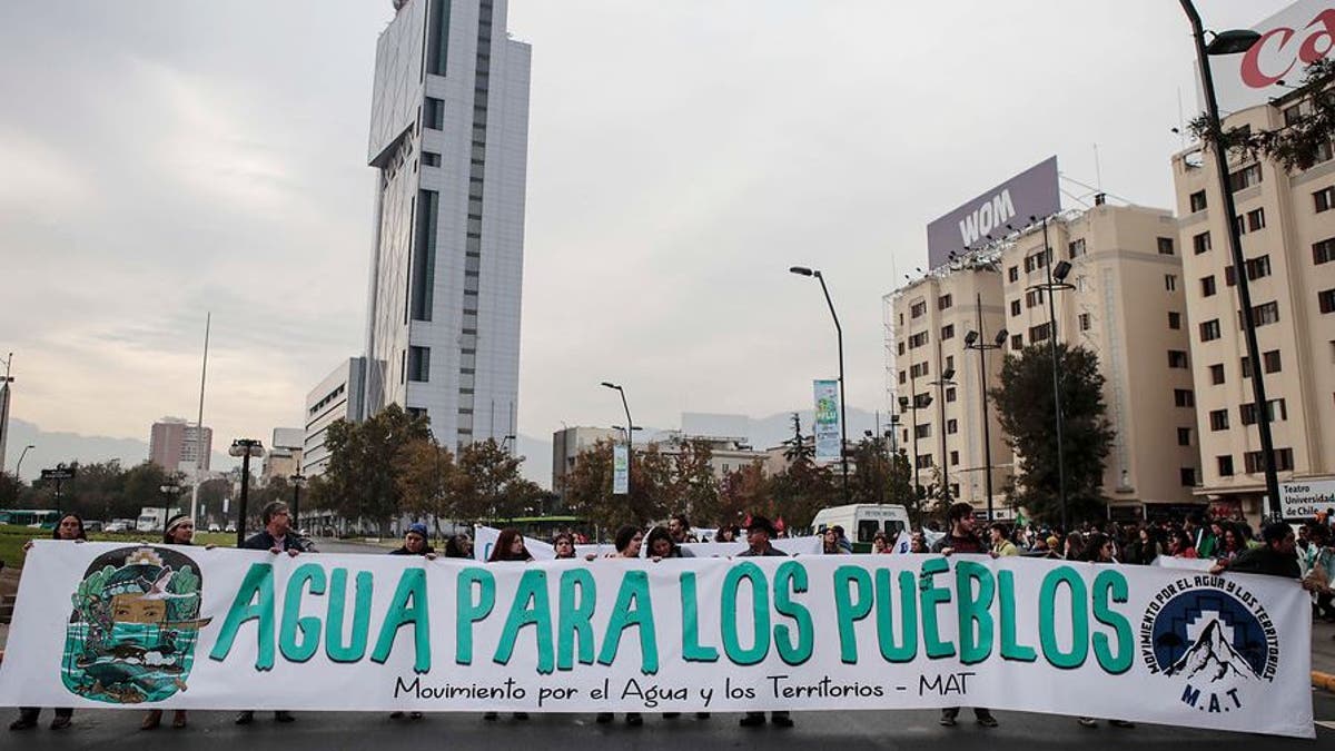
[[[928,224],[928,267],[945,266],[952,253],[987,245],[989,234],[1007,234],[1008,223],[1020,227],[1029,223],[1029,216],[1051,216],[1057,211],[1061,211],[1057,158],[1049,156]],[[997,233],[999,229],[1003,231]]]

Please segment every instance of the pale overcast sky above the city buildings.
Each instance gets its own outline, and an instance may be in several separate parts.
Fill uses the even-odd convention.
[[[422,0],[417,0],[422,1]],[[1246,27],[1283,0],[1197,0]],[[0,357],[13,414],[147,440],[300,425],[359,354],[390,0],[0,4]],[[511,0],[533,44],[519,430],[885,406],[881,297],[925,224],[1059,156],[1172,206],[1195,102],[1171,0]],[[1179,106],[1179,102],[1183,106]],[[1097,144],[1097,147],[1095,146]],[[1096,163],[1095,154],[1099,159]],[[13,457],[11,456],[11,460]]]

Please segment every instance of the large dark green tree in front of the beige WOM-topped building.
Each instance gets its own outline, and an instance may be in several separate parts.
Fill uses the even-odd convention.
[[[1057,346],[1061,389],[1063,457],[1067,516],[1071,522],[1104,517],[1104,458],[1113,432],[1104,417],[1099,358],[1085,347]],[[1008,354],[1001,385],[992,389],[1007,444],[1021,457],[1009,502],[1033,518],[1060,522],[1057,437],[1052,393],[1052,345],[1032,345]]]

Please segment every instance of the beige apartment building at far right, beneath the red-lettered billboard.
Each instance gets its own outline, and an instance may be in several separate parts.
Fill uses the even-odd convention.
[[[1252,107],[1224,127],[1283,127],[1306,106]],[[1228,166],[1280,482],[1335,473],[1335,159],[1330,147],[1322,156],[1292,174],[1247,158]],[[1197,493],[1256,518],[1266,492],[1250,382],[1258,363],[1247,358],[1218,172],[1199,146],[1176,154],[1172,172],[1204,469]]]

